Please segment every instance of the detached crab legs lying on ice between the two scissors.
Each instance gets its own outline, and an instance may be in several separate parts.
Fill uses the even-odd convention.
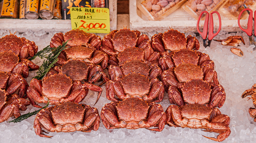
[[[241,42],[245,45],[245,41],[242,36],[229,36],[227,39],[224,40],[215,40],[218,42],[221,42],[222,45],[227,45],[227,46],[239,46]]]

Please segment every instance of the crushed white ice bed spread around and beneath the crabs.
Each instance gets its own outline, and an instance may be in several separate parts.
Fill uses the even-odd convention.
[[[168,30],[168,29],[167,29]],[[3,30],[0,29],[0,37],[9,35],[10,32],[13,34],[15,29]],[[38,50],[50,44],[51,38],[55,33],[63,31],[55,31],[52,29],[50,32],[37,31],[33,32],[30,29],[24,33],[16,32],[15,35],[18,37],[25,37],[28,40],[33,40],[38,46]],[[156,31],[147,34],[149,38],[156,34]],[[196,36],[193,32],[185,33],[185,35]],[[252,101],[242,99],[241,94],[248,88],[256,83],[256,67],[255,57],[256,51],[253,51],[254,46],[249,45],[248,36],[245,32],[227,33],[221,31],[214,39],[226,39],[228,36],[240,35],[245,40],[245,45],[240,44],[240,48],[244,52],[243,57],[239,57],[230,52],[232,46],[222,46],[221,42],[212,41],[211,46],[204,48],[203,40],[201,36],[196,38],[200,41],[200,52],[206,53],[210,56],[210,59],[215,63],[215,70],[218,73],[218,79],[220,84],[224,87],[226,92],[226,101],[220,111],[230,117],[230,136],[223,142],[249,142],[255,141],[256,139],[256,123],[253,121],[248,114],[248,108],[253,107]],[[103,36],[101,36],[103,38]],[[42,61],[40,58],[33,60],[37,65],[41,65]],[[27,78],[28,83],[33,76],[36,75],[36,71],[30,72],[30,76]],[[100,113],[101,108],[106,104],[110,103],[106,99],[105,84],[103,84],[103,92],[99,98],[98,103],[94,106],[97,98],[97,93],[89,91],[88,96],[82,101],[82,103],[89,104],[92,107],[96,107]],[[170,105],[167,94],[160,104],[164,110]],[[43,104],[42,104],[43,105]],[[21,114],[33,112],[38,108],[28,106],[26,111],[21,111]],[[209,140],[202,135],[209,137],[216,137],[217,134],[203,132],[200,129],[190,128],[175,128],[165,125],[162,132],[149,131],[147,129],[113,129],[107,130],[102,123],[97,131],[91,133],[84,132],[72,132],[72,133],[49,133],[53,135],[51,139],[45,137],[39,137],[35,135],[33,122],[35,115],[29,119],[25,119],[18,123],[8,123],[8,121],[0,123],[0,138],[1,142],[215,142]]]

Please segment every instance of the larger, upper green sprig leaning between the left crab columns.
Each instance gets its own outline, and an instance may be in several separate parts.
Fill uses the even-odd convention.
[[[50,53],[46,60],[43,61],[43,64],[40,66],[38,71],[36,72],[37,75],[34,77],[38,80],[42,80],[44,75],[53,67],[53,65],[58,61],[58,56],[60,52],[64,49],[66,49],[66,45],[69,40],[67,40],[63,45],[58,46],[57,48],[54,48],[53,52]],[[47,47],[46,47],[47,48]]]

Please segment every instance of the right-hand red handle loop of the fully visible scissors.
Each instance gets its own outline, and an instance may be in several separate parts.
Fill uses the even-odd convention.
[[[219,18],[219,29],[216,33],[213,33],[213,17],[212,14],[216,13]],[[213,11],[210,14],[210,19],[209,19],[209,35],[208,35],[208,40],[212,40],[213,37],[215,37],[219,32],[221,31],[221,16],[218,11]]]

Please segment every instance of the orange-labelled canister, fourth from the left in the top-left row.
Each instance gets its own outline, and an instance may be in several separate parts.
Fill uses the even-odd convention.
[[[41,0],[39,16],[42,19],[52,19],[55,0]]]

